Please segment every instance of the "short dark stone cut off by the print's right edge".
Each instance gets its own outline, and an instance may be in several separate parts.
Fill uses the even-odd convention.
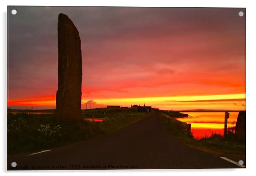
[[[245,110],[240,111],[236,120],[236,131],[235,134],[238,139],[245,140]]]

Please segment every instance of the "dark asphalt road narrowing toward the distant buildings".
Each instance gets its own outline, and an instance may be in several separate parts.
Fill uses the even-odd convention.
[[[154,113],[109,135],[51,151],[7,157],[16,169],[239,168],[224,159],[172,139]]]

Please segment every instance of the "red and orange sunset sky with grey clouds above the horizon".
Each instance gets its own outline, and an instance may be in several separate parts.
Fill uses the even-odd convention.
[[[245,8],[11,7],[7,105],[55,108],[63,13],[80,32],[82,109],[145,103],[245,110],[239,11],[245,14]]]

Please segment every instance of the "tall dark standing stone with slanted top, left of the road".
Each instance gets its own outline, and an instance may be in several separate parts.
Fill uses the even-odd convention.
[[[58,17],[58,90],[56,113],[59,118],[81,117],[82,55],[77,28],[65,14]]]

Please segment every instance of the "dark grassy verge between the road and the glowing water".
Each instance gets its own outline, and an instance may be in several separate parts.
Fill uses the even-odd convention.
[[[238,140],[232,132],[228,132],[226,137],[213,133],[210,137],[196,140],[193,138],[192,134],[188,133],[186,123],[178,121],[175,118],[167,118],[165,115],[161,115],[161,118],[166,124],[171,137],[187,146],[220,157],[229,156],[240,159],[245,158],[245,141]]]

